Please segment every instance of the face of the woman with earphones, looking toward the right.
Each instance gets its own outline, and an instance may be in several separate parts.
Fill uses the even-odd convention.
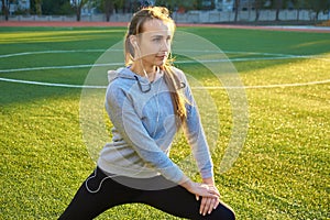
[[[158,19],[146,21],[136,38],[135,58],[141,58],[145,67],[163,66],[170,53],[172,36],[170,24]]]

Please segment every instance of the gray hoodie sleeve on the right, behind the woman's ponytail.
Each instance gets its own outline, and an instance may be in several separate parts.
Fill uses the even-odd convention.
[[[189,103],[186,105],[187,120],[183,124],[184,132],[187,136],[189,145],[193,148],[193,154],[197,162],[197,166],[199,168],[201,177],[209,178],[213,176],[213,164],[206,140],[206,134],[190,86],[184,73],[182,73],[180,75],[182,80],[186,85],[186,87],[184,88],[184,94],[189,101]]]

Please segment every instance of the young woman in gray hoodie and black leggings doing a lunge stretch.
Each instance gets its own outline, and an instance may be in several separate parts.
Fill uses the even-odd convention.
[[[219,200],[200,118],[184,73],[169,65],[174,21],[166,8],[136,12],[125,36],[127,66],[109,72],[106,109],[112,142],[59,219],[92,219],[131,202],[187,219],[234,219]],[[168,157],[178,129],[193,148],[202,183]]]

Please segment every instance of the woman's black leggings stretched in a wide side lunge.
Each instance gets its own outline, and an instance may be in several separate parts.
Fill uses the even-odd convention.
[[[139,182],[139,184],[144,184],[140,186],[147,186],[147,188],[155,186],[157,189],[139,189],[138,187],[125,186],[127,184],[120,184],[127,182]],[[94,219],[111,207],[132,202],[146,204],[167,213],[187,219],[235,219],[233,211],[222,202],[210,215],[201,216],[199,213],[200,200],[197,201],[195,195],[182,186],[166,187],[166,185],[173,184],[162,176],[147,179],[109,178],[97,167],[84,182],[59,219]]]

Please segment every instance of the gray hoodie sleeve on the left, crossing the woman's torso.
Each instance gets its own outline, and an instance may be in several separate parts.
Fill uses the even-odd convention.
[[[116,84],[110,85],[106,96],[106,109],[123,140],[134,148],[146,164],[176,184],[188,179],[148,135],[134,110],[130,94]]]

